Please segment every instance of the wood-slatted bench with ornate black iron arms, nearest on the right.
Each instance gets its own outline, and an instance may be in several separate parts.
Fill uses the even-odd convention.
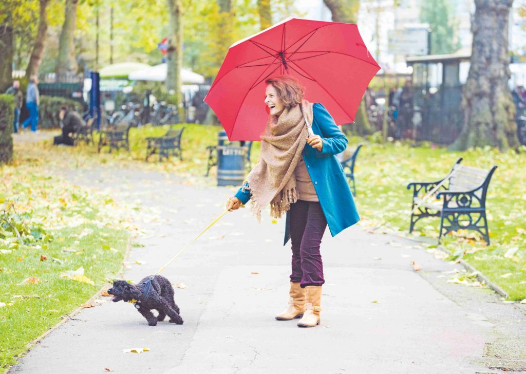
[[[414,224],[425,217],[440,217],[438,241],[451,231],[476,230],[490,244],[486,218],[486,194],[497,166],[489,171],[460,165],[457,160],[450,173],[434,182],[414,182],[411,208],[412,233]],[[440,201],[441,199],[441,201]]]

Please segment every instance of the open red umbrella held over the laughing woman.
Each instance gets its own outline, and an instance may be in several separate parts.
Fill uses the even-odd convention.
[[[354,121],[379,69],[357,25],[289,17],[228,49],[205,102],[230,140],[260,140],[268,117],[265,80],[291,74],[307,100],[322,103],[343,125]]]

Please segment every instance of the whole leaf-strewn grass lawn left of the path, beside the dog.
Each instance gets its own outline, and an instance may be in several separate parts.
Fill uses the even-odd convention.
[[[129,237],[112,199],[46,174],[63,155],[31,148],[0,167],[0,218],[21,235],[0,221],[0,371],[115,277]]]

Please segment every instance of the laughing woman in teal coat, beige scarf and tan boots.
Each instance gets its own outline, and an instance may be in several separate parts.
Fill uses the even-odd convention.
[[[300,327],[320,324],[323,265],[320,243],[327,225],[332,236],[360,219],[335,155],[347,138],[321,104],[304,100],[298,79],[283,75],[266,81],[269,118],[261,135],[258,164],[228,199],[229,211],[252,201],[258,219],[270,204],[272,217],[287,214],[285,242],[292,242],[290,301],[277,320],[301,318]],[[308,136],[306,120],[315,135]],[[307,145],[306,145],[307,144]]]

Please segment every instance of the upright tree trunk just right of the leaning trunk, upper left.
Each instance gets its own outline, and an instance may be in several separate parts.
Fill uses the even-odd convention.
[[[57,82],[67,82],[69,76],[76,74],[78,65],[75,58],[75,28],[77,24],[78,0],[66,0],[64,25],[58,42]]]

